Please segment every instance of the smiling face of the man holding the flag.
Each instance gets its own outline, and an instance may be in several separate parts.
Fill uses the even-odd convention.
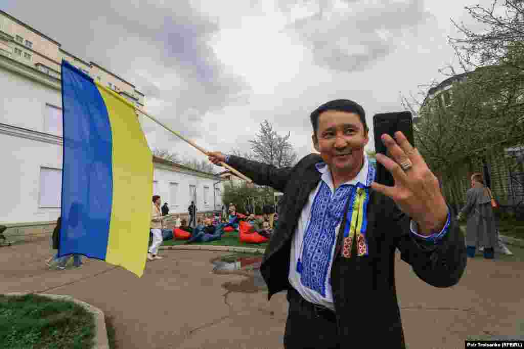
[[[316,131],[313,146],[332,171],[351,172],[362,164],[369,138],[357,114],[326,110]]]

